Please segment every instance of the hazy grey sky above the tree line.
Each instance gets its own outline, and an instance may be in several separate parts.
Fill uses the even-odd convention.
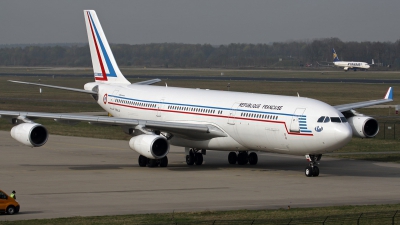
[[[87,43],[84,9],[111,43],[400,39],[399,0],[1,0],[0,44]]]

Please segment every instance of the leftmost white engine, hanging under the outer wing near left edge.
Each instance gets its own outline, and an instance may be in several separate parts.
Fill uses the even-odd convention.
[[[41,124],[22,123],[11,129],[11,137],[24,145],[40,147],[46,144],[49,134]]]

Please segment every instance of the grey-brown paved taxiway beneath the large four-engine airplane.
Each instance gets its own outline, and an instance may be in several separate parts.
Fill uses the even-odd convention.
[[[202,166],[188,166],[171,147],[168,167],[147,168],[128,141],[50,135],[30,148],[5,131],[0,154],[0,189],[21,204],[0,221],[400,202],[396,163],[323,157],[320,176],[308,178],[304,157],[259,152],[257,165],[239,166],[207,151]]]

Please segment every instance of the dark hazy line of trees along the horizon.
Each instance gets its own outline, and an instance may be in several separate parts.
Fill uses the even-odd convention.
[[[338,38],[272,44],[112,44],[119,66],[170,68],[248,68],[323,66],[340,60],[362,61],[400,69],[400,39],[396,42],[343,42]],[[88,45],[2,46],[1,66],[91,66]]]

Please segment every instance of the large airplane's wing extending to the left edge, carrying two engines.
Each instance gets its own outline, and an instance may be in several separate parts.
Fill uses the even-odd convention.
[[[39,118],[54,119],[60,123],[76,124],[88,122],[93,125],[123,126],[128,129],[146,132],[146,130],[157,130],[167,132],[174,136],[189,138],[192,140],[207,140],[215,137],[226,137],[227,135],[218,127],[211,124],[194,124],[180,122],[161,122],[152,120],[137,120],[127,118],[116,118],[107,116],[86,116],[78,114],[41,113],[41,112],[18,112],[1,111],[0,116],[9,119],[13,123],[32,122]]]

